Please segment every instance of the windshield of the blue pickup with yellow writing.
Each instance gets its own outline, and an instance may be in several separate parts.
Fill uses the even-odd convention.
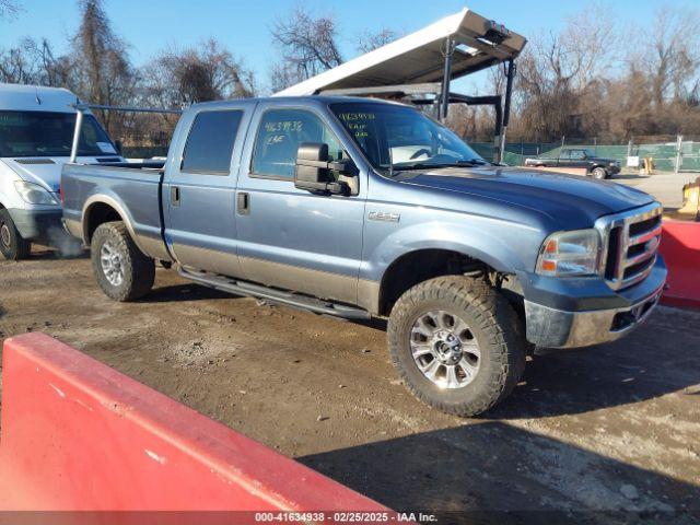
[[[330,109],[374,167],[422,167],[486,164],[444,126],[417,109],[394,104],[341,103]]]

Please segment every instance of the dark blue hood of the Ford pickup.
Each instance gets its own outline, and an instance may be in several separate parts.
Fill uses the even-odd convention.
[[[522,167],[411,171],[400,172],[394,179],[525,207],[556,222],[583,215],[588,225],[602,215],[654,201],[649,194],[607,180]]]

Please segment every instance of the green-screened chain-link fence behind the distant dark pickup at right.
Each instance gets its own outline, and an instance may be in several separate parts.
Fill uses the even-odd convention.
[[[493,159],[493,143],[471,142],[470,145],[485,159]],[[697,136],[632,137],[627,142],[567,137],[557,142],[509,141],[503,162],[523,166],[526,159],[558,159],[563,148],[585,148],[595,156],[619,161],[632,170],[641,166],[643,159],[652,159],[654,170],[660,172],[700,171],[700,137]]]

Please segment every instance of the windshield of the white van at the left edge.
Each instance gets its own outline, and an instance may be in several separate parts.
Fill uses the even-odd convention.
[[[74,129],[74,113],[0,110],[0,156],[70,156]],[[78,154],[116,153],[95,117],[85,115]]]

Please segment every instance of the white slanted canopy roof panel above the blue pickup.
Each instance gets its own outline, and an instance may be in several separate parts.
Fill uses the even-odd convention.
[[[456,45],[452,79],[515,58],[526,42],[523,36],[465,8],[416,33],[280,91],[275,96],[441,82],[447,37]]]

